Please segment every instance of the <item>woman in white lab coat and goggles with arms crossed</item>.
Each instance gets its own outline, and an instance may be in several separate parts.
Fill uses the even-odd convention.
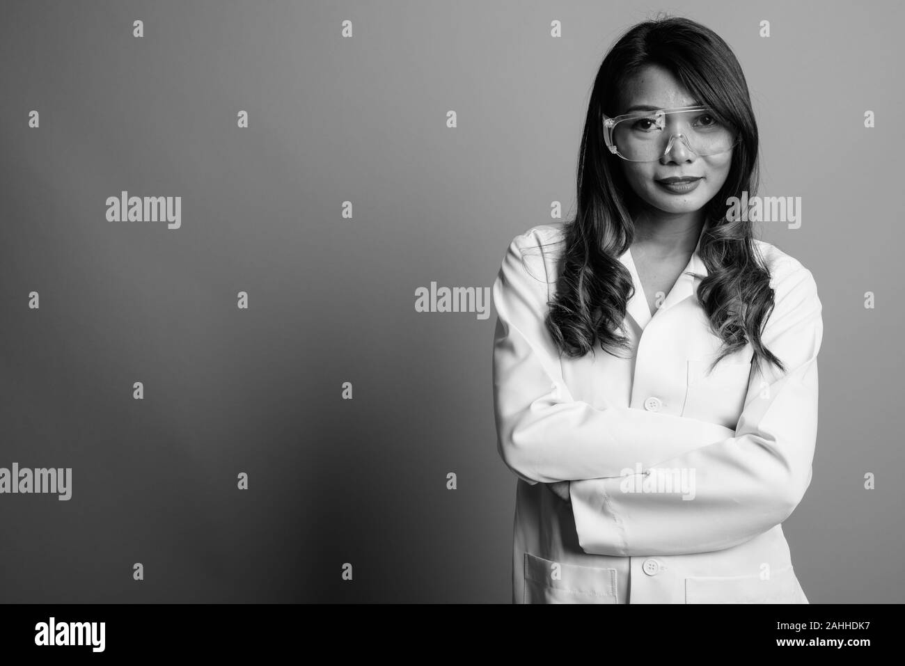
[[[811,480],[821,303],[727,214],[756,188],[729,46],[682,18],[625,33],[575,219],[516,237],[493,286],[513,602],[808,603],[781,523]]]

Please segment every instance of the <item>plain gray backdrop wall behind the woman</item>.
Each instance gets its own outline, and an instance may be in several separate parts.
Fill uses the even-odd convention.
[[[414,290],[490,287],[574,211],[595,72],[659,10],[737,52],[758,194],[803,199],[760,233],[824,303],[795,572],[814,603],[902,601],[905,11],[722,1],[5,0],[0,467],[71,467],[72,498],[0,495],[0,599],[508,603],[495,313]],[[122,190],[182,196],[181,228],[108,222]]]

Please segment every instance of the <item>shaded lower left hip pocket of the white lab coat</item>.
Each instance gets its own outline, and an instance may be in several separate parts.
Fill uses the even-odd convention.
[[[525,604],[615,604],[616,570],[525,553]]]

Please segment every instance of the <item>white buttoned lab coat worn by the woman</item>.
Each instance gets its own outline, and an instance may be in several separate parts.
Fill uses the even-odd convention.
[[[517,236],[493,285],[498,447],[518,477],[513,603],[807,604],[781,523],[810,484],[817,434],[811,271],[755,241],[776,300],[762,341],[785,375],[755,376],[750,344],[706,374],[720,340],[696,295],[700,238],[685,269],[700,278],[683,272],[653,318],[632,253],[620,257],[632,358],[559,357],[543,319],[564,233]],[[570,502],[546,485],[562,480]]]

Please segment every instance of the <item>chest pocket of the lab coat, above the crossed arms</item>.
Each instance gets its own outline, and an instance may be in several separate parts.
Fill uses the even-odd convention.
[[[745,408],[751,363],[729,357],[710,371],[712,358],[689,358],[682,416],[716,423],[735,430]]]

